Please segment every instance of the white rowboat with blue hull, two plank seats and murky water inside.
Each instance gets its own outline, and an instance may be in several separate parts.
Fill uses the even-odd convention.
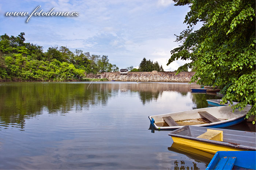
[[[185,125],[218,128],[241,123],[250,109],[251,106],[246,106],[243,111],[236,109],[232,112],[231,106],[218,106],[148,116],[148,118],[158,130],[175,130]]]

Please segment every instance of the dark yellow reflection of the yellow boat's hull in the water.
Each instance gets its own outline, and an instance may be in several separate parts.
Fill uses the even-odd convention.
[[[214,156],[214,154],[210,154],[208,152],[204,152],[202,150],[191,148],[189,146],[181,145],[175,142],[173,142],[171,147],[168,147],[168,150],[176,153],[184,154],[191,159],[194,159],[198,162],[204,162],[207,164],[211,161],[212,157]]]

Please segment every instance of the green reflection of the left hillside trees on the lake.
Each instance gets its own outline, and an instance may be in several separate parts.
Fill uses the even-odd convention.
[[[84,83],[11,83],[0,86],[1,126],[24,127],[25,118],[43,110],[49,113],[82,111],[91,105],[106,105],[117,91],[114,84]],[[87,89],[87,87],[89,87]],[[115,90],[116,89],[116,90]]]

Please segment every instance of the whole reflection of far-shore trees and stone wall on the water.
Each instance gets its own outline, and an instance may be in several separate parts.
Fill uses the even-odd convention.
[[[139,92],[143,104],[157,100],[163,91],[187,95],[196,84],[178,83],[58,83],[19,82],[0,84],[0,126],[18,125],[23,128],[26,118],[43,111],[65,114],[82,111],[91,105],[106,106],[110,96],[121,92]],[[202,99],[197,99],[202,100]],[[197,101],[196,100],[196,101]]]

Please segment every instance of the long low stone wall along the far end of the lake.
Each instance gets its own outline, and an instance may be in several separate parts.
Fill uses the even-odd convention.
[[[128,82],[190,82],[195,72],[128,72],[128,74],[120,74],[119,72],[103,72],[100,78],[107,78],[115,81]]]

